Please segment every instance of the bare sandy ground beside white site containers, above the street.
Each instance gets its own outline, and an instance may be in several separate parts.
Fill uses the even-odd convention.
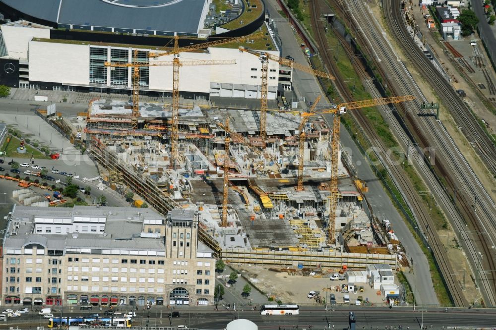
[[[307,298],[310,291],[320,291],[321,297],[329,301],[329,294],[334,293],[337,304],[343,304],[344,293],[326,291],[327,287],[341,286],[347,283],[346,280],[334,280],[329,278],[317,278],[312,276],[289,275],[288,273],[276,273],[269,271],[269,266],[239,265],[236,269],[241,271],[249,281],[267,294],[276,296],[276,300],[283,303],[295,303],[299,305],[316,305],[314,299]],[[350,293],[350,302],[355,304],[358,296],[362,296],[364,301],[369,298],[372,304],[380,305],[385,302],[377,295],[378,290],[373,290],[367,283],[356,283],[358,287],[363,286],[364,292]]]

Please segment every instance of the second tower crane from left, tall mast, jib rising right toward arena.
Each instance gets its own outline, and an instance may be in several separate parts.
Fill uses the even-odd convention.
[[[197,45],[190,45],[186,47],[179,47],[179,36],[174,37],[174,48],[171,51],[163,53],[150,53],[148,57],[156,58],[164,55],[174,55],[173,60],[173,83],[172,83],[172,134],[171,134],[171,167],[175,167],[177,156],[178,156],[178,144],[179,144],[179,68],[183,65],[183,62],[179,60],[179,54],[188,51],[194,51],[202,48],[207,48],[210,46],[219,46],[232,42],[240,42],[245,40],[259,39],[265,36],[264,32],[253,33],[248,36],[228,38],[223,40],[216,40],[211,42],[206,42]]]

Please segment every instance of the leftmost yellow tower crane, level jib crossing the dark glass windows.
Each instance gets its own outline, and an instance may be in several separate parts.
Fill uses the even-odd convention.
[[[139,62],[138,50],[134,50],[133,61],[129,62],[104,62],[105,66],[111,67],[132,67],[132,127],[136,128],[139,117],[139,68],[149,66],[174,65],[173,61]],[[190,60],[183,61],[182,65],[215,65],[215,64],[236,64],[236,60]]]

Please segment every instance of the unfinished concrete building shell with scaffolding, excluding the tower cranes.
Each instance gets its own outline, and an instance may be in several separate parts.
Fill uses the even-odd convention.
[[[364,189],[339,157],[340,203],[334,230],[328,230],[332,130],[320,116],[304,128],[303,189],[298,191],[299,114],[267,111],[262,141],[257,110],[180,108],[179,157],[172,167],[172,111],[152,103],[138,108],[133,127],[131,103],[90,104],[84,132],[92,154],[107,169],[106,179],[159,211],[199,212],[203,234],[221,248],[334,248],[329,232],[341,231],[357,217],[368,219],[360,207]],[[222,223],[226,168],[227,223]],[[365,244],[382,244],[371,237]]]

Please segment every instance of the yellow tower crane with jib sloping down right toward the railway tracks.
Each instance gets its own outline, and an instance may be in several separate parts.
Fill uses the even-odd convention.
[[[262,143],[265,145],[265,138],[266,138],[266,119],[267,119],[267,98],[268,98],[268,60],[273,60],[275,62],[278,62],[281,65],[287,65],[290,66],[294,69],[300,70],[300,71],[305,71],[308,72],[314,76],[322,77],[322,78],[327,78],[327,79],[335,79],[332,75],[322,72],[322,71],[317,71],[314,69],[309,68],[308,66],[296,63],[290,59],[287,58],[281,58],[277,55],[270,54],[268,52],[259,52],[259,51],[253,51],[245,47],[240,47],[239,48],[241,52],[246,52],[255,56],[258,56],[260,59],[260,62],[262,63],[262,75],[261,75],[261,95],[260,95],[260,138],[262,140]]]

